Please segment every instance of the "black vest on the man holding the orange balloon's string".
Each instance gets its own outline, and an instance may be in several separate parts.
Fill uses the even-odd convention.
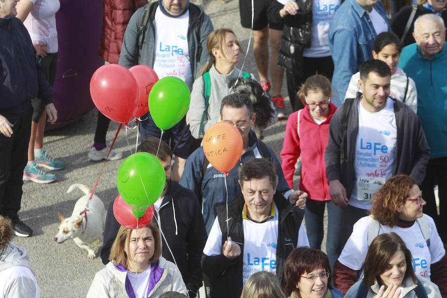
[[[276,192],[273,201],[279,212],[278,246],[276,248],[276,275],[284,286],[284,262],[298,242],[298,231],[304,211],[290,204],[281,193]],[[207,298],[239,298],[242,292],[242,267],[244,254],[244,231],[242,210],[244,197],[239,193],[228,204],[228,235],[240,246],[241,254],[233,260],[224,254],[202,256],[205,293]],[[217,207],[219,225],[222,230],[222,245],[226,241],[226,207]]]

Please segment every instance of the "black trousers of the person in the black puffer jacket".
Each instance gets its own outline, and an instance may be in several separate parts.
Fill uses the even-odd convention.
[[[299,100],[297,93],[301,85],[309,76],[313,74],[323,74],[329,78],[329,81],[331,81],[332,74],[334,73],[334,62],[332,61],[331,56],[318,58],[303,57],[302,59],[302,76],[286,72],[287,92],[289,93],[290,104],[292,105],[294,112],[304,107],[301,100]]]

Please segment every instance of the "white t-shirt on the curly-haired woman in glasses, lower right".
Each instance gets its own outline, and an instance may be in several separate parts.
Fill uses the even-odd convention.
[[[381,225],[378,234],[395,232],[398,234],[413,256],[413,268],[417,276],[423,276],[430,279],[430,264],[439,262],[446,250],[436,229],[435,222],[431,217],[424,214],[430,226],[430,249],[427,247],[424,235],[418,223],[410,227]],[[356,224],[351,236],[343,248],[338,261],[343,265],[353,269],[360,270],[365,263],[368,252],[368,217],[361,218]]]

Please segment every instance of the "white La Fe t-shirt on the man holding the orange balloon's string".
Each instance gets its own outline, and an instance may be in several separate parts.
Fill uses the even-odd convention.
[[[278,209],[275,206],[275,216],[264,223],[242,220],[244,230],[244,248],[241,251],[243,254],[243,283],[251,274],[258,271],[269,271],[276,274],[278,218]],[[302,223],[298,231],[298,246],[309,246],[309,240]],[[222,231],[217,217],[211,227],[203,253],[207,256],[222,254]]]

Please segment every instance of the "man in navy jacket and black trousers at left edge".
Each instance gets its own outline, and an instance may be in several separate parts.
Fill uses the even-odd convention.
[[[36,60],[29,33],[16,18],[18,0],[0,0],[0,215],[12,222],[14,234],[32,229],[17,216],[22,199],[23,169],[31,134],[31,99],[45,103],[50,122],[57,120],[53,91]]]

